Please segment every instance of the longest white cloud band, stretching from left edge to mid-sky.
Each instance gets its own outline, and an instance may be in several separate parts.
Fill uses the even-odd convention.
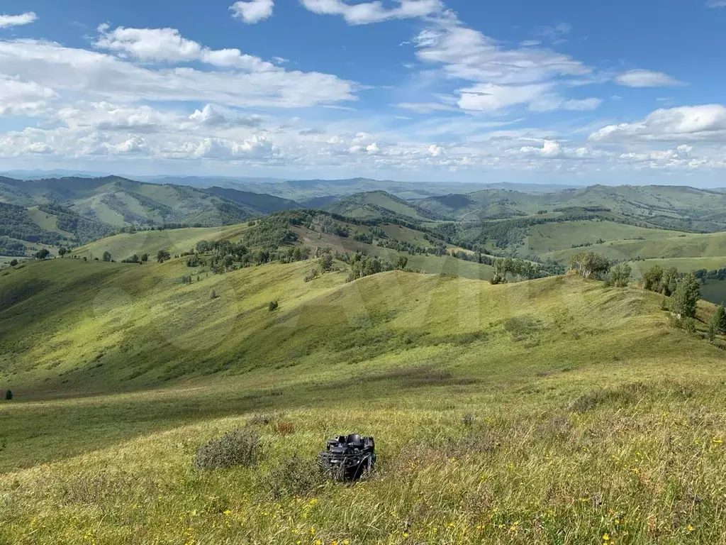
[[[303,108],[356,100],[358,86],[317,72],[203,71],[149,68],[86,49],[46,41],[0,41],[0,73],[68,94],[76,100],[211,102],[245,108]]]

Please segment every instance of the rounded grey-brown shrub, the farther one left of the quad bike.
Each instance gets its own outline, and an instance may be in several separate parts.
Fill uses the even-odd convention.
[[[260,436],[254,429],[238,428],[211,440],[197,450],[194,467],[250,467],[262,458]]]

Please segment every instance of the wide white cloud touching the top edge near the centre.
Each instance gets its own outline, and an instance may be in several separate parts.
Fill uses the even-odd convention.
[[[344,0],[300,0],[311,12],[340,15],[348,25],[367,25],[391,19],[425,17],[441,12],[441,0],[396,0],[398,7],[386,9],[380,1],[348,4]]]

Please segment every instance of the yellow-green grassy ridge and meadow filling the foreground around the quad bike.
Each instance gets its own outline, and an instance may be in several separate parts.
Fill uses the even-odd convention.
[[[726,541],[724,352],[669,327],[661,296],[572,277],[303,283],[305,262],[179,286],[174,260],[75,261],[0,278],[6,294],[47,282],[0,310],[17,384],[0,402],[0,543]],[[235,312],[216,320],[192,290],[218,281]],[[124,296],[99,302],[110,286]],[[23,331],[53,355],[17,350]],[[260,464],[192,468],[236,427],[260,433]],[[353,430],[376,438],[372,479],[291,469]]]

